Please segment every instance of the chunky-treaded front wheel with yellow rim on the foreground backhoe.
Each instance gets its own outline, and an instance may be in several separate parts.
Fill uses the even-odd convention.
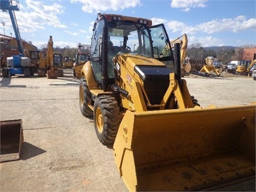
[[[122,121],[118,102],[111,95],[98,97],[94,103],[93,119],[95,132],[103,145],[113,144]]]

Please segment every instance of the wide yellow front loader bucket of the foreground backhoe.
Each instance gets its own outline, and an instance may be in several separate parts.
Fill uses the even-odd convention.
[[[256,105],[126,111],[114,143],[130,191],[191,191],[255,178]]]

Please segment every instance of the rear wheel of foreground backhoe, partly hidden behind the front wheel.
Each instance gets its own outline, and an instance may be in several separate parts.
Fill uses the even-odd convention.
[[[79,85],[79,106],[80,111],[85,117],[93,116],[93,111],[89,107],[91,103],[91,93],[89,91],[89,87],[87,86],[87,82],[85,78],[81,78]]]

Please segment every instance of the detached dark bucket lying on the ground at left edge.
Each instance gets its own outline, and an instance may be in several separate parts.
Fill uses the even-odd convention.
[[[0,161],[12,161],[20,158],[23,144],[22,120],[1,121]]]

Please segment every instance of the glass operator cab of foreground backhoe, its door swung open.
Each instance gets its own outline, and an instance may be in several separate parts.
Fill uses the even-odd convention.
[[[155,58],[165,63],[169,72],[173,70],[173,54],[164,25],[151,23],[148,19],[99,13],[93,28],[90,59],[100,87],[102,79],[107,79],[108,85],[114,83],[113,58],[118,54]]]

